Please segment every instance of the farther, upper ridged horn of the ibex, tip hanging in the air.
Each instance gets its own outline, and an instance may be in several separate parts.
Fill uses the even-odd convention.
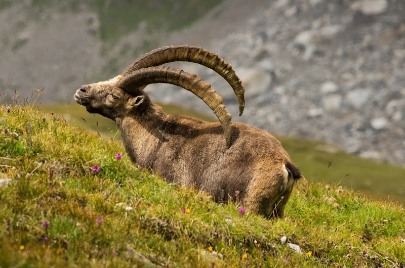
[[[198,63],[213,69],[224,77],[236,95],[239,104],[239,116],[242,115],[245,108],[245,88],[242,86],[242,81],[237,77],[235,71],[232,70],[232,65],[219,58],[218,54],[211,53],[199,47],[189,47],[184,44],[182,46],[170,46],[152,50],[132,62],[121,75],[126,76],[142,68],[158,66],[174,61]]]

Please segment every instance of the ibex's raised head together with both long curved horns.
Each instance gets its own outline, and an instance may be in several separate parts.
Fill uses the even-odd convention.
[[[232,123],[222,98],[212,90],[211,85],[177,68],[156,67],[174,62],[188,61],[209,67],[224,77],[232,86],[242,114],[245,89],[232,66],[217,54],[197,47],[171,46],[153,50],[136,59],[123,73],[104,82],[83,85],[74,98],[86,106],[88,112],[99,113],[115,120],[129,113],[145,111],[150,100],[143,92],[151,83],[170,83],[181,86],[202,99],[216,114],[225,133],[226,148],[230,147]]]

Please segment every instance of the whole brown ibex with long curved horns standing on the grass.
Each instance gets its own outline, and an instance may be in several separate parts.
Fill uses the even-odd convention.
[[[140,167],[151,168],[170,182],[209,192],[217,202],[238,201],[249,211],[282,217],[294,185],[304,178],[299,169],[268,132],[232,124],[210,84],[177,68],[156,67],[175,61],[198,63],[224,77],[242,114],[245,89],[232,66],[217,54],[186,45],[146,53],[120,75],[83,85],[74,98],[88,112],[115,121],[127,154]],[[192,92],[220,123],[166,114],[143,91],[151,83],[170,83]]]

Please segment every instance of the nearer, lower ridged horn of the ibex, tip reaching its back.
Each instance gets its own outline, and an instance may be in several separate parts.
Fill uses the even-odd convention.
[[[199,79],[195,74],[171,67],[148,67],[133,71],[118,84],[127,92],[152,83],[169,83],[181,86],[202,99],[213,110],[221,122],[225,133],[226,149],[231,146],[232,122],[231,115],[225,108],[222,98],[211,88],[211,85]]]

